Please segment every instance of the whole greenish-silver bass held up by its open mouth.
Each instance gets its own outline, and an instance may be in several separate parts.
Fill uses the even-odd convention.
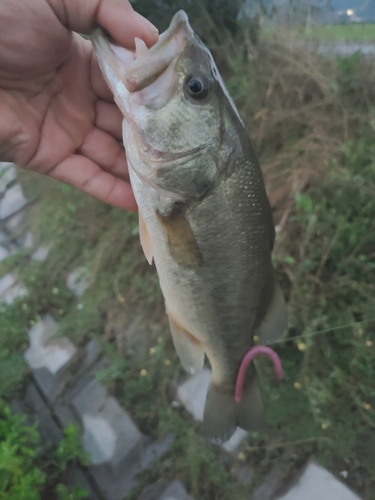
[[[241,360],[287,328],[272,265],[272,212],[251,139],[213,57],[184,11],[151,48],[91,36],[123,120],[139,232],[155,263],[173,343],[189,374],[207,358],[200,431],[226,440],[264,428],[255,366],[235,400]]]

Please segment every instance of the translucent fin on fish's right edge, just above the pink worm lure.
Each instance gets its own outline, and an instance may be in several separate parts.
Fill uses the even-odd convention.
[[[272,302],[257,328],[255,335],[259,337],[260,344],[271,344],[278,340],[288,327],[288,314],[281,288],[276,283]]]

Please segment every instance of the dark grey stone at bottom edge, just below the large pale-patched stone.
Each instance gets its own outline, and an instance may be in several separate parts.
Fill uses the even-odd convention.
[[[163,440],[151,443],[140,450],[140,460],[133,461],[130,466],[119,468],[117,474],[109,470],[106,465],[90,467],[92,476],[106,500],[123,500],[136,485],[138,474],[148,469],[154,460],[157,460],[169,448],[173,435],[169,434]]]

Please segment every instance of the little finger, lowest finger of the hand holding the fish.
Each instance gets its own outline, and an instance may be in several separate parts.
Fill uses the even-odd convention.
[[[132,212],[137,210],[130,184],[104,172],[84,156],[72,155],[57,165],[49,175],[115,207]]]

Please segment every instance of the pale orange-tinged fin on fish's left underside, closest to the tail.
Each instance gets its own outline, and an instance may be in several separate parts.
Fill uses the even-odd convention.
[[[182,366],[192,375],[202,371],[204,351],[201,342],[182,327],[170,313],[168,317],[173,343]]]

